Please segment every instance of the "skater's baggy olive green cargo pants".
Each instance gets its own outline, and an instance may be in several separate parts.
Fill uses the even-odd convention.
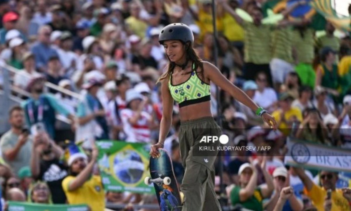
[[[180,155],[185,168],[180,186],[184,193],[182,211],[221,211],[214,191],[214,161],[218,152],[199,152],[203,136],[220,136],[213,117],[182,121],[179,128]],[[206,146],[219,146],[219,142]]]

